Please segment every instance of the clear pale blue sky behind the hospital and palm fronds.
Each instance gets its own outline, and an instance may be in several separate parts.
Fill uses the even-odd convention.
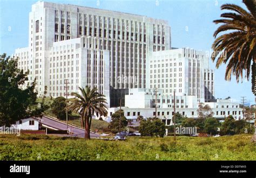
[[[28,46],[29,12],[31,5],[35,2],[37,1],[0,0],[0,53],[5,52],[11,55],[15,48]],[[172,47],[191,47],[204,51],[211,50],[214,40],[212,34],[218,27],[212,21],[220,18],[220,6],[225,3],[234,3],[245,8],[241,0],[49,0],[49,2],[83,5],[165,19],[171,26]],[[215,69],[214,63],[210,63]],[[224,74],[225,66],[215,69],[215,97],[231,96],[240,101],[241,96],[246,96],[247,101],[254,104],[251,81],[244,79],[242,83],[237,83],[233,77],[228,82],[225,81]]]

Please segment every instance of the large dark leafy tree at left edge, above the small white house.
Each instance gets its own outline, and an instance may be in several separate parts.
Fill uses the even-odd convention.
[[[28,83],[25,89],[21,86],[28,81],[29,71],[17,68],[18,59],[0,56],[0,125],[10,126],[17,120],[26,117],[42,117],[46,106],[36,102],[36,82]]]

